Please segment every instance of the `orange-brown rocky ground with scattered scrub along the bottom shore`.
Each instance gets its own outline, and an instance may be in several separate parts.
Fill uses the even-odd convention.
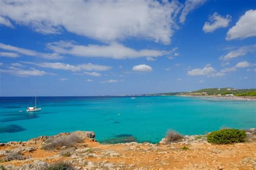
[[[70,142],[77,137],[82,140],[73,146],[51,148],[59,139]],[[159,144],[103,145],[94,132],[76,131],[0,144],[0,160],[0,169],[46,169],[58,162],[73,169],[255,169],[256,142],[212,145],[204,135],[192,135],[171,144],[164,138]]]

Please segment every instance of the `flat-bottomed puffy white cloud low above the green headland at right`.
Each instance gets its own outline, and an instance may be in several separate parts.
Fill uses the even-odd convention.
[[[193,69],[187,71],[188,76],[207,76],[207,77],[221,77],[225,76],[223,72],[217,72],[213,67],[206,65],[203,69]]]

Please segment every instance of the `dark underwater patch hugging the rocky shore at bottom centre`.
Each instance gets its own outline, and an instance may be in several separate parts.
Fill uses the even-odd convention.
[[[134,138],[131,134],[118,134],[115,135],[114,138],[103,140],[102,144],[120,144],[120,143],[129,143],[136,142],[136,138]]]

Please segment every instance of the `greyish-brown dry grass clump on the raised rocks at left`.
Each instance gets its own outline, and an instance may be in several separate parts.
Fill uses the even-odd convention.
[[[56,149],[63,146],[73,147],[77,143],[83,142],[83,139],[78,137],[78,135],[76,134],[69,134],[63,137],[50,138],[45,142],[46,144],[42,146],[42,149],[51,150],[51,149]]]

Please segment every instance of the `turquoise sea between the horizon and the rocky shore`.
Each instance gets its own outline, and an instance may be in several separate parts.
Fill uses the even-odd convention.
[[[255,101],[178,96],[38,97],[42,111],[27,113],[31,99],[0,97],[0,142],[77,130],[94,131],[100,142],[119,137],[159,142],[169,129],[205,134],[223,126],[256,126]]]

